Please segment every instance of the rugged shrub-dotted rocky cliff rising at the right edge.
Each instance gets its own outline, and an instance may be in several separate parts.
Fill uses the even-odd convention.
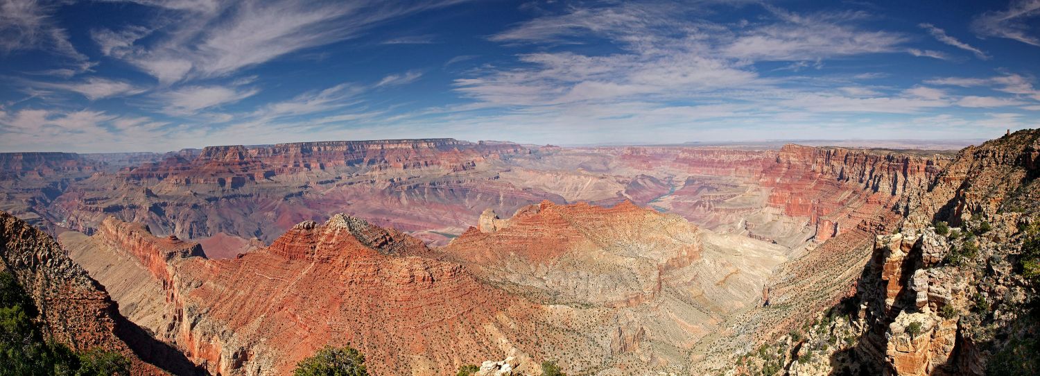
[[[780,356],[752,356],[738,371],[1035,373],[1037,150],[1036,130],[962,150],[927,190],[906,195],[902,230],[875,239],[854,294],[804,336],[783,336]]]

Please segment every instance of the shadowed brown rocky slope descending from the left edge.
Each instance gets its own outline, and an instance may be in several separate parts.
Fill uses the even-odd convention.
[[[120,352],[135,375],[197,372],[182,354],[123,318],[104,286],[49,235],[6,212],[0,212],[0,261],[34,300],[49,340],[78,351]]]

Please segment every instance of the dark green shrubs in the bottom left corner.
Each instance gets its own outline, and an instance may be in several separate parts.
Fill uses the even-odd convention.
[[[76,353],[44,340],[35,304],[9,273],[0,273],[0,376],[129,375],[130,360],[115,352],[93,349]]]

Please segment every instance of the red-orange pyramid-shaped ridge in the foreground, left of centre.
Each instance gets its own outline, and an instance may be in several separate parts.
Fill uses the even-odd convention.
[[[423,257],[431,250],[422,242],[349,216],[303,222],[270,247],[231,259],[205,259],[193,243],[115,220],[79,241],[105,247],[74,255],[118,286],[116,299],[133,302],[131,316],[211,373],[284,374],[327,344],[352,344],[372,371],[395,374],[447,374],[502,353],[608,351],[553,333],[558,324],[545,323],[542,308],[464,267]],[[93,259],[105,254],[108,262]],[[106,271],[127,256],[162,294],[149,300],[141,283],[120,285],[126,274]]]

